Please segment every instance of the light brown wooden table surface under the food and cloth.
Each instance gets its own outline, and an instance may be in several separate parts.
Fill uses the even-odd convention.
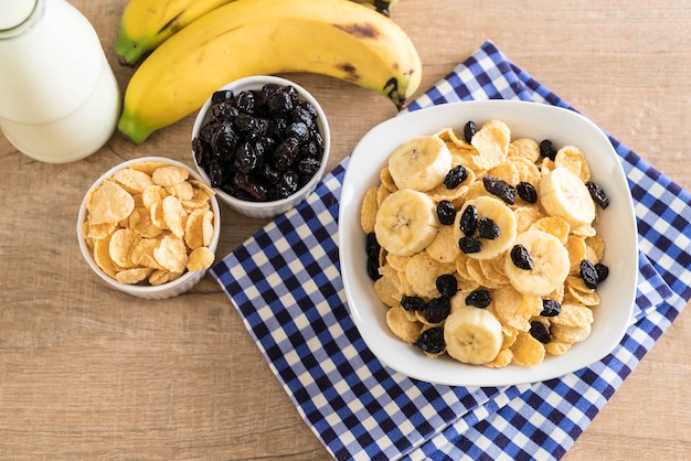
[[[126,1],[72,3],[93,22],[125,88],[132,69],[117,64],[113,46]],[[492,40],[691,189],[687,0],[402,0],[393,18],[422,56],[418,94]],[[329,116],[330,168],[394,116],[387,100],[353,85],[291,77]],[[0,136],[0,458],[328,459],[210,276],[179,298],[146,301],[106,288],[79,255],[76,214],[91,183],[136,157],[192,164],[192,121],[140,146],[116,133],[68,164],[32,161]],[[266,224],[222,212],[220,257]],[[565,459],[672,460],[691,452],[689,331],[687,309]]]

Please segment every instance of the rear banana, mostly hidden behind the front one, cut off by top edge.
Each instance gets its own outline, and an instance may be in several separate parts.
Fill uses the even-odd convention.
[[[115,42],[123,65],[136,65],[176,32],[209,11],[235,0],[130,0],[125,7]],[[382,14],[398,0],[363,0]]]

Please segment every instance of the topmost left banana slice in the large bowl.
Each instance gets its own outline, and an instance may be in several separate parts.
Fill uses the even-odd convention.
[[[389,158],[389,172],[398,189],[429,191],[440,184],[451,169],[451,152],[436,136],[413,138]]]

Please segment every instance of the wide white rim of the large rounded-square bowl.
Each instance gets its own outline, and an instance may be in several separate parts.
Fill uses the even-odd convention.
[[[504,119],[504,115],[507,114],[511,114],[511,119]],[[603,341],[598,341],[597,344],[594,342],[595,335],[592,334],[591,337],[588,337],[588,340],[591,340],[589,343],[587,343],[588,340],[584,341],[583,343],[578,343],[574,345],[574,347],[572,347],[572,350],[565,355],[549,356],[545,358],[545,361],[543,361],[542,364],[534,367],[520,367],[518,365],[511,364],[504,368],[486,368],[475,365],[461,364],[460,362],[453,361],[453,358],[449,357],[439,357],[436,360],[429,360],[424,357],[426,361],[429,362],[430,365],[426,366],[423,364],[422,367],[424,369],[416,369],[414,368],[414,366],[416,366],[416,364],[422,364],[423,362],[421,362],[421,358],[418,356],[413,354],[414,351],[412,350],[408,353],[403,353],[403,347],[408,347],[408,345],[397,337],[392,337],[393,334],[390,331],[386,331],[387,326],[382,320],[382,315],[384,315],[384,313],[375,312],[375,309],[382,304],[381,301],[375,298],[373,289],[370,289],[366,294],[359,294],[358,290],[362,291],[363,288],[366,288],[365,283],[369,283],[369,286],[371,287],[372,282],[366,274],[363,275],[364,265],[362,266],[363,270],[357,272],[353,260],[361,260],[363,259],[363,256],[357,249],[350,249],[352,248],[352,245],[358,242],[355,239],[355,233],[359,232],[360,235],[363,235],[362,229],[360,228],[359,221],[354,224],[352,221],[354,221],[359,216],[360,203],[362,201],[364,190],[357,190],[354,184],[361,185],[361,189],[365,189],[368,182],[370,183],[369,185],[376,185],[374,176],[379,173],[378,168],[385,164],[385,159],[387,159],[391,151],[393,151],[393,149],[397,147],[396,142],[403,142],[404,140],[413,138],[414,136],[430,135],[447,127],[454,127],[456,129],[463,130],[463,126],[469,119],[475,119],[476,122],[480,122],[487,121],[491,118],[498,118],[500,120],[503,119],[510,128],[513,128],[512,120],[519,119],[520,124],[530,124],[529,127],[531,129],[534,128],[535,132],[561,133],[564,130],[564,125],[561,124],[565,121],[570,124],[576,124],[580,129],[584,129],[586,131],[583,135],[578,135],[577,138],[574,137],[573,133],[568,135],[570,138],[574,139],[571,143],[575,146],[585,144],[585,142],[580,142],[580,140],[585,139],[586,136],[595,137],[594,139],[596,139],[596,141],[588,140],[587,144],[589,146],[593,142],[596,142],[596,144],[598,146],[597,154],[588,154],[588,152],[584,150],[584,152],[586,153],[586,158],[588,158],[588,162],[591,156],[597,156],[598,158],[602,158],[602,160],[598,160],[598,162],[600,162],[598,164],[604,164],[607,168],[607,171],[597,172],[599,178],[609,178],[608,175],[616,176],[618,184],[616,186],[616,190],[620,191],[620,193],[623,194],[623,187],[626,187],[626,196],[628,197],[624,200],[623,203],[615,204],[615,210],[617,210],[617,218],[623,216],[626,221],[626,223],[623,223],[621,226],[624,228],[618,229],[623,233],[621,243],[617,242],[615,243],[615,245],[625,245],[625,254],[627,255],[627,257],[617,259],[626,259],[626,264],[624,261],[614,262],[617,265],[618,268],[621,268],[620,277],[628,286],[612,287],[610,282],[610,288],[609,290],[607,290],[609,294],[614,292],[620,294],[620,298],[617,298],[620,299],[620,303],[618,303],[617,307],[621,308],[620,310],[616,311],[617,324],[606,326],[598,325],[597,337],[600,339],[600,336],[603,335],[605,335],[605,337],[603,339]],[[538,120],[533,120],[535,118]],[[439,121],[439,119],[443,119],[443,121]],[[559,124],[559,126],[556,126],[555,124]],[[568,129],[572,130],[572,127],[570,127]],[[393,130],[403,132],[403,138],[400,136],[396,137],[397,141],[395,142],[392,140],[381,139],[383,138],[383,133],[390,133]],[[517,130],[517,132],[519,130]],[[513,135],[512,139],[515,139]],[[560,141],[560,144],[565,143],[562,143]],[[373,153],[381,148],[387,149],[387,152],[379,154]],[[602,149],[607,150],[608,156],[604,156],[603,152],[599,152],[599,150]],[[366,163],[364,163],[365,157]],[[368,179],[362,179],[362,169],[364,167],[366,167],[369,170],[372,170],[371,173],[364,174],[365,176],[368,176]],[[358,180],[358,178],[360,179]],[[610,187],[614,189],[614,186]],[[610,208],[608,208],[607,211],[609,212]],[[617,221],[617,223],[619,222]],[[387,365],[391,368],[398,371],[400,373],[403,373],[412,378],[444,385],[506,386],[534,383],[563,376],[564,374],[572,373],[581,369],[582,367],[588,366],[610,353],[624,337],[632,315],[638,275],[638,239],[634,205],[630,197],[630,191],[626,182],[626,175],[624,173],[621,162],[605,132],[593,121],[571,109],[535,101],[503,99],[469,100],[432,106],[412,112],[402,114],[401,116],[383,121],[382,124],[372,128],[368,133],[365,133],[365,136],[353,149],[349,167],[346,171],[343,186],[341,191],[338,240],[343,288],[346,291],[348,308],[353,323],[358,328],[368,347],[384,365]],[[364,254],[364,250],[362,251],[362,254]],[[613,255],[605,255],[605,260],[612,261],[612,259]],[[624,290],[627,291],[624,292]],[[382,309],[385,308],[382,307]],[[599,309],[602,309],[602,307]],[[599,315],[615,315],[615,313],[610,314],[606,311],[600,310],[596,312],[596,320],[598,313]],[[380,326],[376,326],[376,324],[379,324]],[[594,324],[594,332],[596,326]],[[585,345],[586,343],[587,346]],[[592,352],[593,349],[597,349],[597,351]],[[573,352],[575,351],[585,352],[574,354]],[[422,356],[422,353],[419,354],[419,356]],[[438,365],[432,365],[432,363],[438,364],[439,362],[437,361],[439,361],[440,358],[453,361],[453,363],[457,364],[457,366],[454,367],[454,369],[448,369],[443,367],[437,368]],[[566,363],[566,361],[570,362]],[[435,375],[430,376],[428,374],[430,369],[435,372]]]

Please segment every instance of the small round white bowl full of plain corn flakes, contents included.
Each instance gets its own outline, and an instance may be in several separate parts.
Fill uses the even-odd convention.
[[[105,172],[77,217],[84,259],[109,287],[167,299],[194,287],[215,259],[214,192],[183,163],[145,157]]]

